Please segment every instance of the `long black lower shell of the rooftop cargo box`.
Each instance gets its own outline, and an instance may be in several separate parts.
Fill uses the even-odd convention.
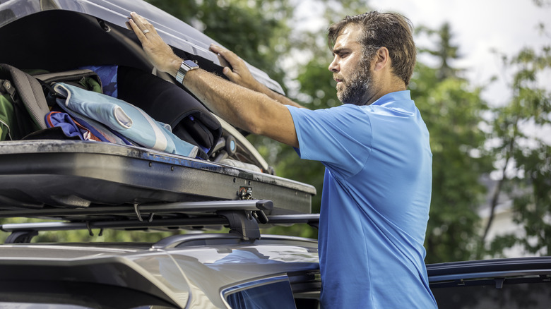
[[[271,200],[308,214],[312,186],[141,147],[73,140],[0,143],[0,208],[44,210],[151,202]]]

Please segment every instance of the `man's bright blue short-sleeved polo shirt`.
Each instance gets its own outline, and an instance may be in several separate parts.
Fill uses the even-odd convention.
[[[436,308],[425,268],[432,153],[409,91],[368,106],[288,107],[302,159],[326,166],[324,308]]]

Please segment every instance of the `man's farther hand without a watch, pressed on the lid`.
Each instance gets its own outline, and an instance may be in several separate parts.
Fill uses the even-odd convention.
[[[229,80],[237,85],[242,85],[251,90],[262,92],[261,84],[254,79],[247,65],[234,52],[215,44],[211,44],[211,51],[218,55],[218,59],[220,59],[222,65],[225,63],[229,65],[225,66],[223,69],[224,75],[226,75]]]

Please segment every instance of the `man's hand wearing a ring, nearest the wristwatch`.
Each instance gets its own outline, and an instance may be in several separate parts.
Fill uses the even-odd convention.
[[[176,56],[176,54],[172,52],[170,46],[162,41],[157,30],[155,30],[153,25],[151,25],[146,18],[132,12],[130,13],[130,18],[126,23],[126,27],[136,33],[143,47],[143,51],[146,52],[149,61],[153,63],[155,68],[159,71],[167,72],[172,76],[176,76],[182,59]]]

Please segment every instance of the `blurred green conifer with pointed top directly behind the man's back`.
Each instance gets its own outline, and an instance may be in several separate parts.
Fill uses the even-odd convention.
[[[427,226],[426,262],[468,260],[478,240],[478,206],[485,196],[480,175],[490,170],[490,158],[482,146],[482,113],[487,110],[480,98],[482,88],[470,89],[452,68],[458,47],[451,43],[449,25],[439,30],[419,28],[428,34],[435,49],[421,47],[420,54],[435,57],[434,68],[417,63],[410,84],[412,97],[430,133],[432,149],[432,201]]]

